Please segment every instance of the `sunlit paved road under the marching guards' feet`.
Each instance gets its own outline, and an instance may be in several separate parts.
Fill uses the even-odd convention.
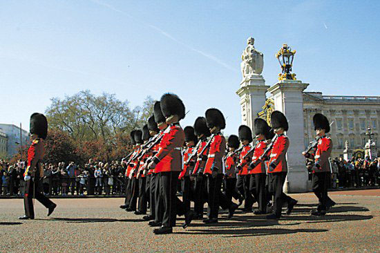
[[[319,218],[308,214],[313,194],[292,194],[299,205],[278,222],[238,212],[218,225],[195,221],[160,236],[119,209],[122,198],[55,199],[51,218],[36,203],[36,219],[21,222],[22,200],[1,199],[0,252],[380,252],[379,195],[336,191],[338,205]]]

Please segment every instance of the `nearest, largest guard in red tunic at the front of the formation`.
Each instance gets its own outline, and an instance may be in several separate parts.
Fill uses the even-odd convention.
[[[192,212],[185,213],[183,203],[175,196],[178,186],[178,176],[182,171],[182,147],[184,131],[179,121],[184,118],[184,104],[177,95],[164,94],[160,100],[161,111],[169,124],[161,142],[158,153],[152,159],[149,167],[160,166],[160,195],[164,203],[162,227],[154,229],[155,234],[171,234],[175,227],[176,215],[185,215],[184,227],[192,219]]]

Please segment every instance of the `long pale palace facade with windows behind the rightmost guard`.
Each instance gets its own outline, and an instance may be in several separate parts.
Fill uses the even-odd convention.
[[[379,152],[380,97],[323,95],[320,92],[303,93],[305,124],[305,147],[315,138],[312,119],[315,113],[323,113],[331,125],[330,136],[334,144],[332,158],[343,156],[345,148],[351,153],[364,152],[369,140],[368,128],[373,133],[372,141]],[[348,147],[346,147],[348,146]],[[377,153],[375,156],[379,156]]]

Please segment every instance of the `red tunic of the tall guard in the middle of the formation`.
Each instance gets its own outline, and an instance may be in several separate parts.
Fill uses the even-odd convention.
[[[223,173],[224,165],[222,162],[222,158],[225,155],[225,150],[225,137],[221,133],[214,135],[213,140],[211,140],[210,143],[209,155],[207,156],[207,162],[203,174],[212,174],[213,167],[218,168],[218,174]]]

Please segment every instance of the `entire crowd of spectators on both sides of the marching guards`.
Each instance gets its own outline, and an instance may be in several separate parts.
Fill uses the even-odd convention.
[[[368,187],[380,185],[380,158],[370,160],[331,160],[331,188]],[[120,161],[95,162],[85,165],[74,162],[45,163],[41,189],[47,196],[122,195],[125,192],[125,169]],[[0,160],[0,195],[23,196],[26,162],[10,165]],[[310,172],[311,178],[311,172]]]

